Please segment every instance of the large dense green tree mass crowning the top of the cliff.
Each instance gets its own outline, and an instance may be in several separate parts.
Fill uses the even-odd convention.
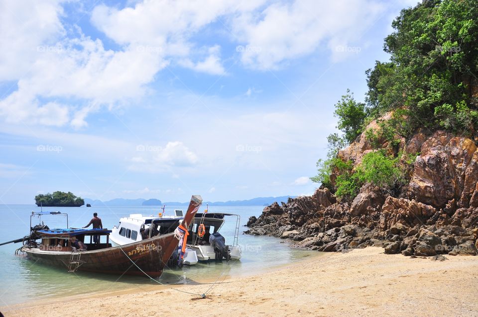
[[[426,0],[403,9],[392,26],[384,43],[390,62],[366,72],[370,112],[401,108],[408,135],[419,126],[475,132],[478,0]]]

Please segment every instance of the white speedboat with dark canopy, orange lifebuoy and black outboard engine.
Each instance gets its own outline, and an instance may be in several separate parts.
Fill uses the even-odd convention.
[[[234,240],[230,245],[226,244],[225,238],[219,234],[226,216],[235,216],[237,219]],[[196,213],[193,227],[190,229],[188,247],[196,251],[200,261],[221,260],[223,258],[239,260],[241,257],[241,249],[238,244],[239,220],[239,215],[234,214]],[[205,233],[203,234],[201,231],[205,231]]]

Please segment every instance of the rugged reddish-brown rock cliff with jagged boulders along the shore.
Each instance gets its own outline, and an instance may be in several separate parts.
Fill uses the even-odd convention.
[[[329,189],[321,188],[312,196],[265,207],[259,218],[249,219],[245,233],[287,238],[319,251],[374,245],[404,255],[477,255],[475,141],[445,131],[419,131],[400,143],[404,156],[420,155],[397,197],[368,183],[353,201],[338,202]],[[362,134],[339,156],[358,164],[370,151]]]

